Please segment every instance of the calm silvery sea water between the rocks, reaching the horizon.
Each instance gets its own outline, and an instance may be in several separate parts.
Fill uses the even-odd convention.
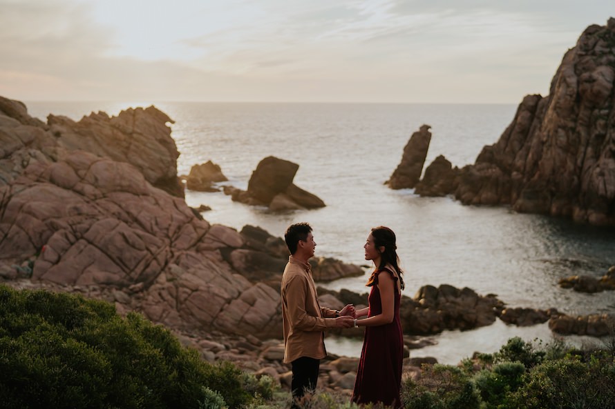
[[[79,119],[95,110],[117,114],[151,103],[28,103],[32,116],[50,112]],[[207,204],[211,223],[240,230],[261,226],[276,236],[297,221],[314,227],[316,254],[365,264],[363,243],[371,227],[389,226],[406,270],[405,294],[426,284],[448,283],[493,293],[509,306],[558,308],[569,314],[615,313],[615,293],[585,295],[562,290],[569,275],[603,275],[615,265],[615,232],[580,226],[509,208],[462,206],[450,198],[422,198],[383,185],[401,159],[410,134],[426,123],[433,137],[427,163],[439,154],[455,166],[473,163],[495,143],[515,113],[514,105],[155,103],[173,120],[181,152],[178,172],[211,160],[229,184],[246,188],[261,159],[274,155],[299,163],[294,182],[321,197],[319,210],[276,213],[231,201],[223,193],[187,192],[190,206]],[[368,269],[366,268],[366,275]],[[326,286],[364,292],[366,277]],[[445,332],[437,345],[414,351],[456,363],[475,350],[493,352],[512,336],[548,341],[546,325],[496,323],[468,332]],[[578,342],[575,338],[571,341]],[[328,339],[328,349],[359,355],[360,343]]]

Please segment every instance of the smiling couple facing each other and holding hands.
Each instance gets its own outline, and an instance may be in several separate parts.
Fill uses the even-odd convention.
[[[292,366],[292,408],[301,408],[306,392],[316,388],[320,359],[327,352],[324,331],[328,328],[365,327],[363,350],[354,383],[355,403],[384,403],[401,408],[401,364],[404,341],[399,321],[403,272],[399,268],[395,233],[386,227],[372,228],[365,259],[374,264],[366,286],[371,287],[368,307],[352,305],[342,310],[323,308],[308,260],[316,242],[308,223],[296,223],[284,235],[291,256],[282,277],[284,362]]]

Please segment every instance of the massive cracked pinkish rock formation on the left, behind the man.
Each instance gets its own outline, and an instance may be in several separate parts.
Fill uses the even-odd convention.
[[[154,186],[177,180],[169,121],[150,107],[43,123],[0,99],[0,277],[108,299],[173,330],[279,337],[279,283],[257,273],[281,274],[285,243],[210,225]]]

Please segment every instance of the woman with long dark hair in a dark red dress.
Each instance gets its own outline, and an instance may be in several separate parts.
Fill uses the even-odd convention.
[[[404,289],[399,268],[395,233],[383,226],[372,228],[365,243],[365,259],[374,263],[368,280],[371,287],[369,307],[357,310],[355,326],[366,327],[363,350],[354,382],[352,401],[381,402],[401,408],[401,363],[404,360],[404,340],[399,322],[399,302]]]

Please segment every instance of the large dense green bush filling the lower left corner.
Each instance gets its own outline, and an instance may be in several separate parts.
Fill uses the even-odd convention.
[[[141,315],[103,301],[0,286],[3,408],[198,408],[252,398],[231,363],[211,365]],[[207,389],[209,388],[209,390]]]

